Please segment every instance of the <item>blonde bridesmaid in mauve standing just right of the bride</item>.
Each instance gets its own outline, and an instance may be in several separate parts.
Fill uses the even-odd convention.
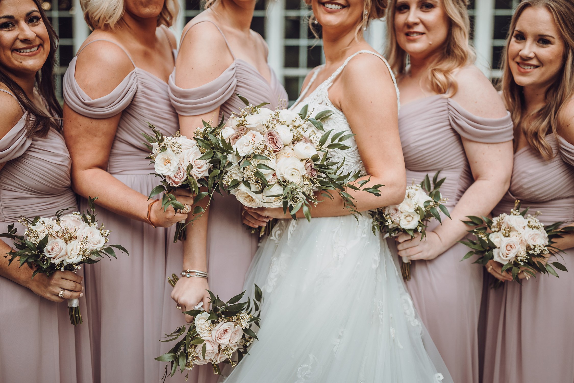
[[[494,87],[472,64],[466,6],[455,0],[391,2],[386,57],[398,74],[408,184],[441,171],[452,217],[443,216],[442,225],[433,220],[422,241],[420,235],[396,238],[398,255],[413,261],[407,287],[453,381],[478,383],[483,275],[471,261],[460,262],[467,249],[456,242],[468,229],[461,219],[487,215],[509,186],[513,125]]]

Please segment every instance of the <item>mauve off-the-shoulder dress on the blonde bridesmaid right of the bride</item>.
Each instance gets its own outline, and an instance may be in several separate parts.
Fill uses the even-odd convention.
[[[407,184],[420,183],[437,171],[446,177],[441,193],[452,211],[472,184],[472,173],[461,137],[493,143],[513,138],[510,114],[482,118],[464,110],[452,98],[433,95],[401,106],[399,132],[405,157]],[[443,222],[448,219],[442,213]],[[429,230],[439,222],[430,222]],[[394,240],[389,246],[396,253]],[[478,320],[482,296],[482,268],[460,262],[466,246],[456,243],[434,260],[412,263],[406,286],[454,382],[478,383]]]

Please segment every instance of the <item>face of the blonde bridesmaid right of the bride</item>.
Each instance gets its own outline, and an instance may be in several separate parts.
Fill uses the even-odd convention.
[[[397,0],[394,12],[397,43],[413,58],[424,59],[443,47],[449,25],[441,0]]]

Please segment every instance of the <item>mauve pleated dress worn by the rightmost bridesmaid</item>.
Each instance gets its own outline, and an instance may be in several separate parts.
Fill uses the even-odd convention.
[[[555,156],[545,161],[526,146],[514,154],[510,189],[492,211],[540,211],[540,222],[574,221],[574,145],[546,136]],[[564,257],[562,259],[561,257]],[[522,287],[488,291],[484,383],[574,382],[574,249],[552,258],[568,268],[560,278],[538,275]]]

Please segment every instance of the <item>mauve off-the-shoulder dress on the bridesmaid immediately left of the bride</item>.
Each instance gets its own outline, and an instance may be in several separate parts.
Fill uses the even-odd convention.
[[[197,24],[199,22],[194,25]],[[222,36],[225,38],[223,32]],[[182,40],[184,37],[185,35]],[[177,113],[200,115],[220,107],[219,119],[222,116],[227,119],[231,113],[237,114],[245,107],[236,94],[245,96],[253,105],[269,102],[270,105],[266,107],[274,110],[280,101],[284,100],[286,107],[288,96],[273,70],[269,68],[269,83],[253,65],[236,59],[227,39],[225,42],[234,61],[215,80],[197,88],[184,89],[175,84],[177,68],[169,76],[169,95]],[[207,256],[210,289],[223,300],[228,300],[242,291],[245,273],[257,251],[257,242],[257,235],[251,234],[241,223],[241,204],[235,196],[216,195],[210,207]]]

